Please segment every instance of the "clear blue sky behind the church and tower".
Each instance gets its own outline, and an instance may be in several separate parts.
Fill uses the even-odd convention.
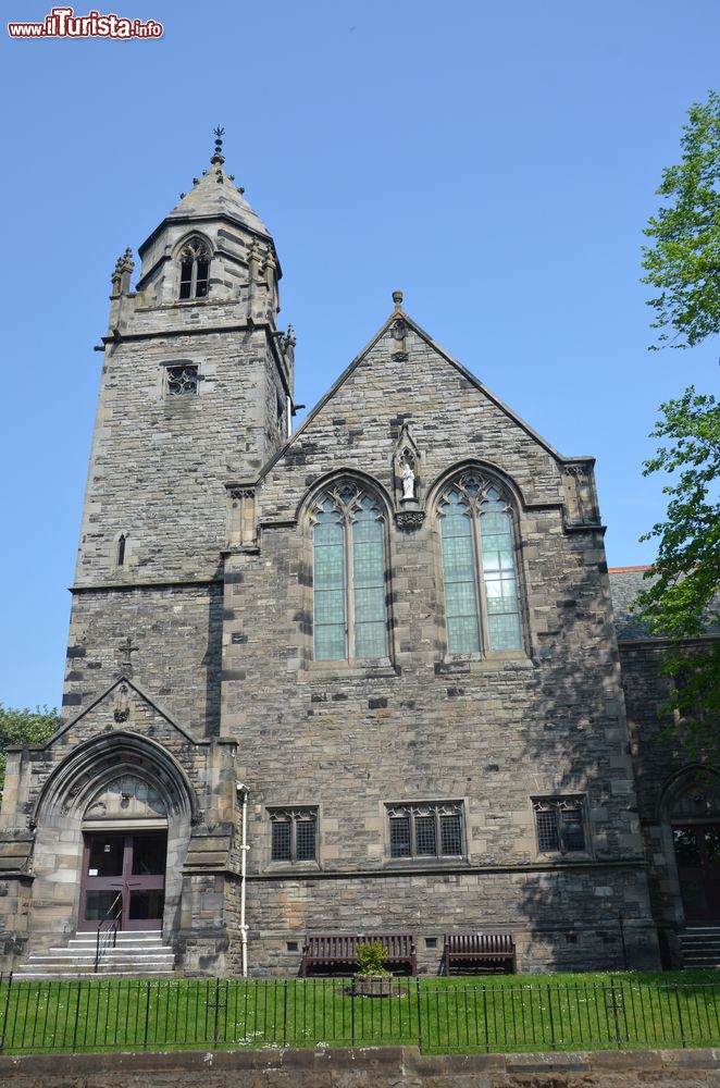
[[[640,247],[686,109],[720,83],[717,0],[95,7],[164,36],[2,27],[0,703],[60,703],[110,274],[207,166],[219,122],[277,245],[297,399],[400,287],[557,449],[597,458],[610,565],[651,561],[647,434],[661,400],[717,390],[719,345],[647,351]]]

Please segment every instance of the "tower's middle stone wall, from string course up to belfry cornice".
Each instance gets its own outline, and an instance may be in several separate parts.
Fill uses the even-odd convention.
[[[157,309],[153,334],[105,348],[78,585],[216,578],[225,484],[255,479],[284,441],[277,399],[284,405],[286,393],[270,327],[225,331],[223,307],[195,307],[194,316],[193,332],[181,333],[172,309]],[[166,367],[183,360],[199,368],[197,395],[169,396]]]

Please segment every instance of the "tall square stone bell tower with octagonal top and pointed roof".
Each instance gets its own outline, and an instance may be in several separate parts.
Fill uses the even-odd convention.
[[[255,481],[287,438],[295,346],[276,324],[273,238],[226,173],[222,137],[139,247],[135,286],[129,249],[112,274],[66,716],[127,673],[129,636],[146,690],[200,734],[219,728],[227,484]]]

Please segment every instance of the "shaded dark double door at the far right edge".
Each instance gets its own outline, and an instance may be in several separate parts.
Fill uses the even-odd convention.
[[[720,922],[720,824],[674,825],[685,922]]]

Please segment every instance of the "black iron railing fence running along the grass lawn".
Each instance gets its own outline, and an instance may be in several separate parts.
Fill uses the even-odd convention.
[[[0,1050],[413,1044],[522,1051],[720,1044],[720,982],[394,979],[388,997],[352,980],[102,979],[0,976]]]

